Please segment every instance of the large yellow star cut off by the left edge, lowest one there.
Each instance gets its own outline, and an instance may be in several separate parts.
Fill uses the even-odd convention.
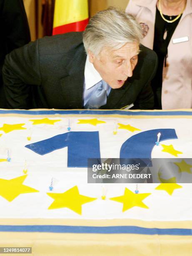
[[[23,185],[27,175],[23,175],[14,179],[0,179],[0,195],[7,201],[11,202],[20,194],[39,192],[32,187]]]

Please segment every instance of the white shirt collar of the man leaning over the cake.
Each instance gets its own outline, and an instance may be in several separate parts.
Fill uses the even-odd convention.
[[[99,72],[97,72],[93,64],[89,61],[88,55],[85,63],[84,75],[86,90],[90,89],[93,85],[97,84],[102,80],[102,77],[100,76]]]

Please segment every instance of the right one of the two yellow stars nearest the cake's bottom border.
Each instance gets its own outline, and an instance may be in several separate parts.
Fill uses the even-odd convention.
[[[146,197],[151,195],[151,193],[143,193],[143,194],[135,194],[131,190],[125,188],[124,195],[120,197],[112,197],[110,200],[116,201],[116,202],[121,202],[123,203],[123,212],[126,210],[138,206],[142,208],[149,208],[147,205],[145,205],[142,200],[144,200]]]

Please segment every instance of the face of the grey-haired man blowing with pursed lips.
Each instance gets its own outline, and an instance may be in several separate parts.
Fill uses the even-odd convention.
[[[127,43],[118,50],[105,47],[96,56],[89,52],[90,62],[102,79],[113,89],[123,86],[138,61],[139,46],[137,43]]]

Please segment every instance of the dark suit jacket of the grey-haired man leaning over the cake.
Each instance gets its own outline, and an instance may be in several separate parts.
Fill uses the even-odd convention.
[[[140,47],[133,76],[120,89],[112,89],[101,109],[153,107],[150,81],[157,67],[154,51]],[[82,33],[41,38],[6,56],[5,93],[10,108],[82,109],[86,54]]]

